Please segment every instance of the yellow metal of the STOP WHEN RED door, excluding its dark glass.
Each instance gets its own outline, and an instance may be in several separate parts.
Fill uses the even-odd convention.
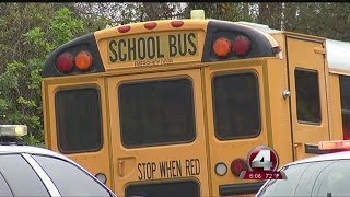
[[[120,134],[120,95],[122,84],[163,81],[186,78],[191,81],[194,90],[196,136],[192,141],[176,144],[160,144],[145,147],[128,147]],[[168,71],[161,73],[143,73],[107,78],[109,103],[109,124],[112,134],[112,152],[115,174],[115,192],[126,195],[128,186],[158,184],[173,181],[194,181],[200,188],[200,196],[211,196],[206,152],[206,129],[203,120],[203,104],[201,100],[200,70]],[[151,92],[150,92],[151,94]],[[161,104],[161,103],[160,103]],[[144,130],[147,132],[147,130]],[[140,137],[140,139],[142,139]],[[141,195],[141,194],[138,194]]]

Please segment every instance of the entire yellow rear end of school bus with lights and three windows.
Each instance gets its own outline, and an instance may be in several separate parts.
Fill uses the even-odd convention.
[[[261,182],[238,173],[271,141],[266,72],[278,53],[271,36],[213,20],[77,38],[43,71],[46,144],[120,196],[254,194]]]

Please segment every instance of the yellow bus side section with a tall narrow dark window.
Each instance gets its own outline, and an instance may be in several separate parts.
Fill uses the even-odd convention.
[[[310,157],[329,140],[322,39],[287,36],[294,159]],[[310,154],[311,153],[311,154]]]

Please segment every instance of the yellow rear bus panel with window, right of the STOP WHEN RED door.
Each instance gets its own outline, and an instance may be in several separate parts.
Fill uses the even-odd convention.
[[[269,146],[262,80],[265,61],[229,61],[205,68],[213,196],[254,193],[261,185],[238,179],[238,175],[243,170],[240,164],[243,165],[252,148]],[[222,163],[229,167],[226,175],[215,173]]]

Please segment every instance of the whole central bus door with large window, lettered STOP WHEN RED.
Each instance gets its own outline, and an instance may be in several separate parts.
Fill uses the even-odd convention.
[[[115,190],[209,196],[200,70],[108,77],[107,92]]]

